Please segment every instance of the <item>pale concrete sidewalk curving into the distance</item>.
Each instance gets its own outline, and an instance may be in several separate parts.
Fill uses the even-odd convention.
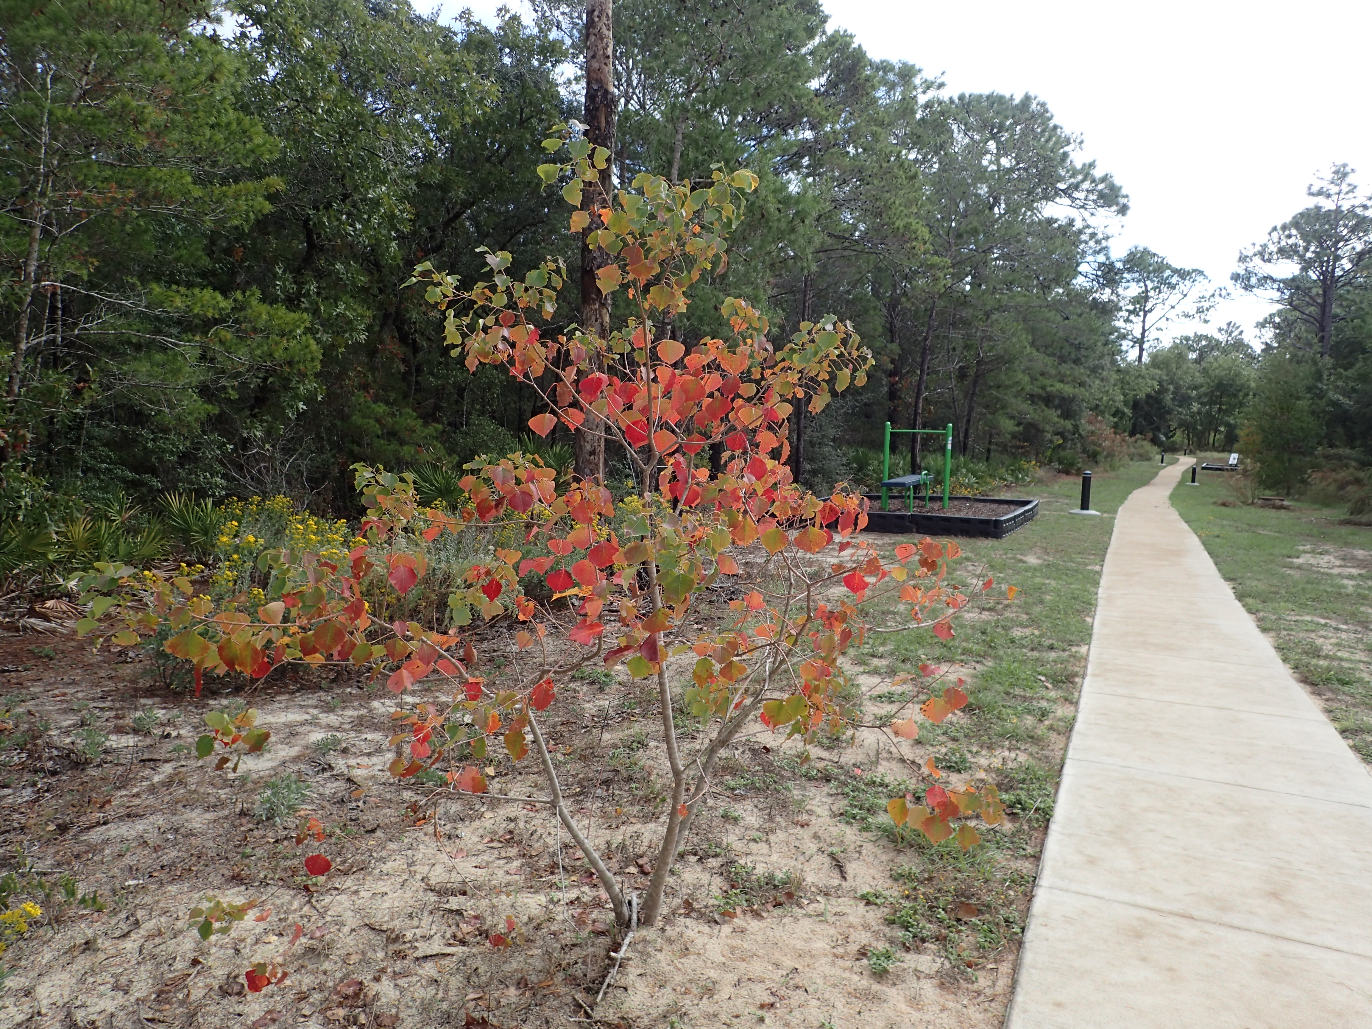
[[[1372,777],[1168,501],[1117,516],[1008,1029],[1372,1026]]]

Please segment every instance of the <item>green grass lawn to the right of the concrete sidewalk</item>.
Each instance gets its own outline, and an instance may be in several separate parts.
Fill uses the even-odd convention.
[[[1235,501],[1225,475],[1177,486],[1173,506],[1281,660],[1372,763],[1372,528],[1340,525],[1342,510],[1301,501],[1290,510],[1221,506]]]

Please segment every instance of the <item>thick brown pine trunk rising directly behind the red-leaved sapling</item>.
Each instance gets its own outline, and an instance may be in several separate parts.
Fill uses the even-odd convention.
[[[595,147],[615,154],[615,36],[613,0],[586,0],[586,139]],[[593,336],[609,336],[609,299],[601,294],[595,272],[609,263],[604,250],[587,244],[589,233],[601,228],[594,211],[608,203],[615,185],[613,161],[600,173],[600,188],[584,189],[583,210],[591,211],[590,225],[582,235],[582,329]],[[597,369],[598,370],[598,369]],[[576,475],[582,479],[605,479],[605,435],[598,420],[587,417],[576,431]]]

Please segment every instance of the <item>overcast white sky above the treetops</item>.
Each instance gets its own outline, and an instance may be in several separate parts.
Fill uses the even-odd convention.
[[[423,7],[423,4],[420,4]],[[471,7],[490,19],[499,3]],[[510,4],[516,7],[517,4]],[[1129,195],[1114,248],[1146,246],[1228,284],[1239,250],[1306,206],[1334,162],[1372,188],[1367,0],[826,0],[868,54],[951,92],[1034,93]],[[1238,296],[1211,324],[1249,331]]]

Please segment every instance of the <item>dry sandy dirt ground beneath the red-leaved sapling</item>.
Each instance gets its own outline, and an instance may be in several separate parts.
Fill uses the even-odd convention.
[[[4,955],[0,1029],[1002,1022],[1017,932],[966,956],[959,919],[999,904],[1022,926],[1041,829],[988,833],[984,874],[919,866],[897,882],[910,845],[873,831],[873,804],[858,801],[871,783],[866,800],[884,805],[882,777],[908,777],[926,756],[918,742],[899,755],[859,733],[801,764],[781,737],[741,741],[671,881],[670,914],[639,932],[597,1006],[615,940],[579,852],[546,808],[392,781],[384,689],[273,675],[255,691],[211,679],[195,698],[141,650],[95,654],[63,635],[0,638],[0,871],[29,868],[21,895],[37,896],[38,879],[52,890]],[[578,818],[631,888],[646,885],[664,794],[643,697],[597,671],[547,712]],[[272,730],[268,750],[236,774],[196,761],[204,715],[244,704]],[[538,792],[531,766],[506,759],[490,789]],[[303,812],[324,842],[296,845],[298,815],[259,816],[287,775],[307,786]],[[302,866],[313,851],[333,862],[322,878]],[[63,875],[104,910],[64,899]],[[257,907],[202,941],[188,912],[209,897]],[[932,912],[904,943],[889,922],[900,904]],[[512,945],[493,947],[493,932]],[[247,992],[244,971],[269,960],[285,981]]]

